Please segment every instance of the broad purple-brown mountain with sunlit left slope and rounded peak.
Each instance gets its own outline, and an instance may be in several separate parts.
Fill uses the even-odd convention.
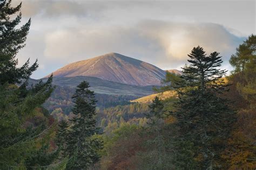
[[[53,72],[53,76],[91,76],[112,82],[150,86],[159,85],[165,77],[165,71],[144,61],[118,53],[108,53],[70,63]]]

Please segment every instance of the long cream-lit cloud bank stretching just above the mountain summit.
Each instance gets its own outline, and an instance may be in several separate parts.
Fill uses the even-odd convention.
[[[44,55],[52,60],[84,60],[119,52],[160,68],[179,67],[195,46],[228,60],[242,38],[212,23],[173,23],[147,20],[133,27],[70,28],[46,34]],[[72,59],[70,59],[72,58]]]

